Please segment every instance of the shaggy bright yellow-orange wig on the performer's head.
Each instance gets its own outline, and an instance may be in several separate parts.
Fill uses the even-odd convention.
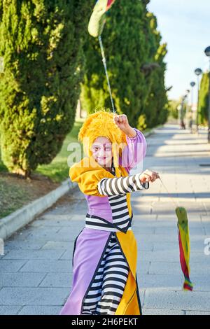
[[[112,143],[113,165],[116,168],[116,176],[120,176],[118,171],[118,155],[122,155],[122,150],[127,145],[126,135],[114,122],[117,113],[102,109],[95,111],[87,117],[78,133],[78,141],[83,144],[83,150],[87,156],[92,156],[92,144],[97,137],[106,137]]]

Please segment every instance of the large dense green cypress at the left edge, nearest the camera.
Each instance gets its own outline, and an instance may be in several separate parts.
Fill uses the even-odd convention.
[[[50,163],[73,126],[88,2],[0,0],[1,157],[11,172]]]

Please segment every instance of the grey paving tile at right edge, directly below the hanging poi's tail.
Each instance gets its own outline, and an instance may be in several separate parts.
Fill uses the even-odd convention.
[[[148,288],[143,306],[149,309],[210,311],[210,293]]]

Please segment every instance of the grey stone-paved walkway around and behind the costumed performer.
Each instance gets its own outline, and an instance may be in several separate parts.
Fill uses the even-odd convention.
[[[132,194],[133,230],[139,246],[138,283],[144,314],[210,314],[210,146],[199,135],[165,125],[148,137],[143,166],[160,173],[190,226],[190,279],[183,274],[175,205],[161,182]],[[86,201],[76,188],[31,225],[6,241],[0,256],[0,314],[58,314],[69,295],[73,241],[83,229]]]

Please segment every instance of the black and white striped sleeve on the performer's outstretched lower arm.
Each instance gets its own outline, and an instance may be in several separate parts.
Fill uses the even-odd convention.
[[[149,188],[149,183],[140,183],[139,176],[141,173],[130,175],[126,177],[116,177],[114,179],[102,179],[97,184],[99,193],[101,195],[122,195],[131,193],[137,190],[144,190]]]

